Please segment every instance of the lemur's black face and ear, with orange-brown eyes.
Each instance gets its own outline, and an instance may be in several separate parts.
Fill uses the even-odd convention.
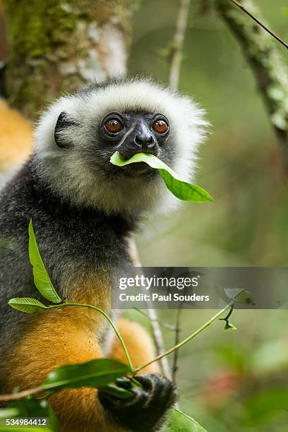
[[[77,124],[61,113],[55,128],[55,141],[61,148],[69,148],[63,131],[71,130]],[[80,124],[78,125],[80,127]],[[109,175],[128,175],[148,177],[157,175],[157,170],[150,168],[144,162],[129,164],[126,167],[116,167],[109,162],[114,152],[118,151],[124,159],[138,152],[152,153],[164,162],[171,161],[173,150],[167,148],[169,137],[169,121],[163,114],[147,112],[110,112],[102,119],[100,126],[91,125],[91,143],[83,148],[88,153],[90,168],[97,165]]]

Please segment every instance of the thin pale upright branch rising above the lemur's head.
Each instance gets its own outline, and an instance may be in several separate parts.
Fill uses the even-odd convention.
[[[178,88],[179,83],[181,52],[187,28],[189,6],[190,0],[181,0],[179,13],[176,20],[176,31],[174,40],[172,42],[172,54],[169,68],[169,86],[174,89]]]

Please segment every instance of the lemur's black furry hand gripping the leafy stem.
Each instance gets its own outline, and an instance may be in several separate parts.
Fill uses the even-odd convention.
[[[136,380],[143,387],[130,389],[134,397],[123,400],[99,390],[100,402],[116,424],[131,431],[158,431],[167,409],[176,402],[176,389],[170,380],[156,374],[137,376]]]

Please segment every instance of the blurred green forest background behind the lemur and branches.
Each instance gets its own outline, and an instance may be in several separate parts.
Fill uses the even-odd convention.
[[[287,0],[258,0],[270,27],[288,40]],[[197,184],[212,204],[184,204],[137,236],[145,266],[287,266],[288,184],[275,135],[239,44],[215,11],[192,1],[179,89],[207,110],[211,134],[200,150]],[[137,3],[131,74],[167,81],[163,49],[174,35],[178,1]],[[32,16],[31,16],[31,19]],[[249,20],[248,17],[246,17]],[[6,57],[0,25],[2,59]],[[275,42],[277,46],[277,42]],[[288,65],[288,52],[277,49]],[[0,59],[1,60],[1,59]],[[183,311],[181,337],[212,311]],[[150,327],[137,311],[128,313]],[[175,311],[160,311],[174,323]],[[215,323],[180,352],[180,405],[212,432],[287,431],[287,311],[235,311],[236,331]],[[174,332],[164,330],[166,347]]]

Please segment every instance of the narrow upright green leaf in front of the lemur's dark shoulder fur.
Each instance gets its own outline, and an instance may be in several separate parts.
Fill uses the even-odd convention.
[[[29,258],[33,266],[34,283],[40,294],[53,303],[61,303],[59,295],[52,284],[44,266],[37,246],[32,220],[29,223]]]

